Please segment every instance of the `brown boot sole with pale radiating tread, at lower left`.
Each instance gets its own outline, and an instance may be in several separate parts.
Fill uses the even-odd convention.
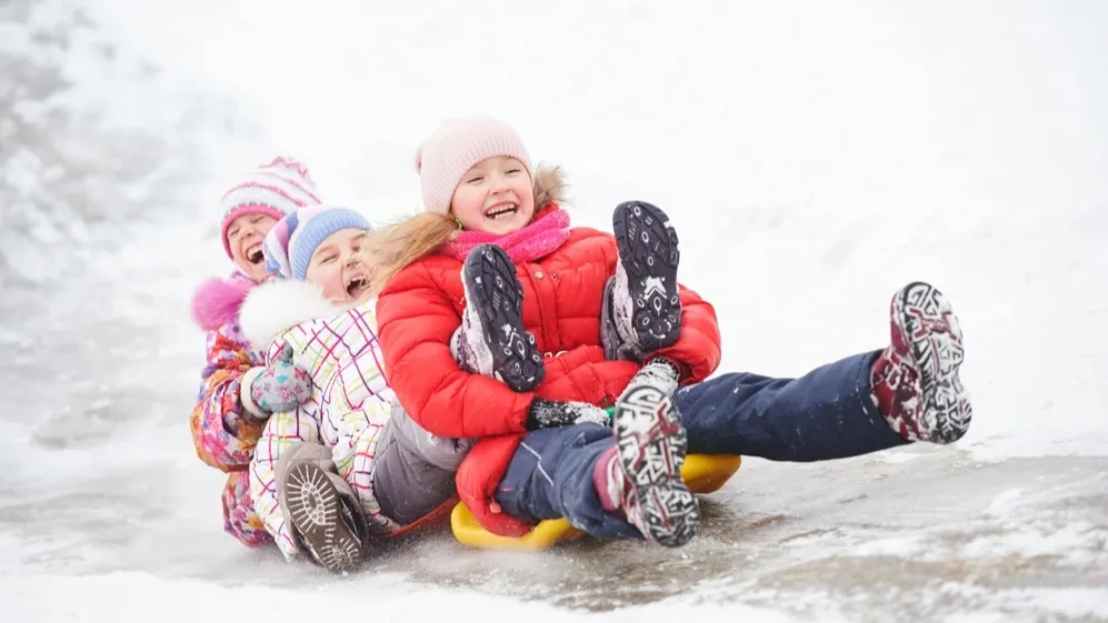
[[[362,544],[341,519],[339,492],[318,465],[295,465],[286,483],[286,502],[293,527],[311,555],[328,571],[351,571],[362,556]]]

